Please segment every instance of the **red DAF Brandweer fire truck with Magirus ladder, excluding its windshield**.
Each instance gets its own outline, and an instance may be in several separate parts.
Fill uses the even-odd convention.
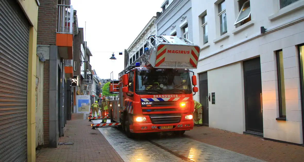
[[[194,102],[192,95],[198,92],[196,87],[196,76],[193,73],[192,76],[192,85],[189,83],[189,86],[194,86],[191,92],[194,94],[178,94],[178,95],[154,95],[159,97],[154,97],[153,95],[137,95],[133,93],[132,97],[129,97],[129,79],[128,73],[132,70],[140,70],[146,67],[151,67],[154,69],[180,69],[185,70],[188,73],[191,72],[189,69],[196,69],[199,59],[200,48],[194,43],[190,42],[188,39],[177,36],[166,36],[166,35],[151,35],[147,39],[147,47],[144,49],[143,55],[126,67],[122,72],[119,73],[119,80],[112,80],[110,84],[110,93],[118,94],[119,100],[111,100],[109,106],[109,117],[111,123],[93,123],[91,124],[92,129],[102,128],[102,127],[123,127],[123,130],[126,131],[127,136],[130,137],[133,133],[149,133],[149,132],[162,132],[175,130],[175,132],[185,132],[185,130],[193,129],[193,112],[194,112]],[[189,74],[188,74],[189,75]],[[113,72],[111,73],[113,77]],[[190,76],[188,76],[190,77]],[[134,81],[135,82],[135,81]],[[190,81],[191,82],[191,81]],[[176,93],[174,93],[176,94]],[[136,96],[137,95],[137,96]],[[128,97],[127,97],[128,96]],[[135,97],[136,96],[136,97]],[[152,96],[152,97],[151,97]],[[163,97],[165,96],[165,97]],[[169,97],[167,97],[169,96]],[[170,97],[171,96],[171,97]],[[127,98],[126,98],[127,97]],[[132,100],[131,100],[132,99]],[[138,101],[136,101],[138,100]],[[147,100],[147,102],[146,102]],[[162,102],[176,102],[181,106],[185,106],[186,110],[172,110],[170,113],[180,113],[179,116],[170,116],[166,112],[162,112],[159,115],[160,117],[153,117],[150,114],[151,110],[156,109],[147,109],[143,104],[151,104],[154,101]],[[171,102],[170,101],[170,102]],[[133,105],[134,102],[141,102],[141,106]],[[171,103],[172,103],[171,102]],[[150,105],[151,106],[151,105]],[[148,106],[149,107],[149,106]],[[162,110],[167,110],[166,107],[157,107],[162,108]],[[172,109],[172,108],[171,108]],[[145,110],[145,112],[143,111]],[[149,111],[148,111],[149,110]],[[164,116],[166,113],[167,116]],[[136,117],[138,115],[143,115],[145,117]],[[186,114],[186,115],[185,115]],[[129,117],[128,117],[129,116]],[[130,120],[130,116],[135,117]],[[149,118],[150,119],[147,119]],[[151,117],[152,116],[152,117]],[[155,124],[163,121],[164,118],[176,118],[179,119],[178,123],[169,123],[169,124]],[[144,119],[143,123],[137,124],[135,122],[139,121],[137,118]],[[130,121],[133,121],[130,123]],[[134,124],[135,123],[135,124]],[[127,125],[130,124],[132,130]],[[132,132],[130,132],[132,131]]]

